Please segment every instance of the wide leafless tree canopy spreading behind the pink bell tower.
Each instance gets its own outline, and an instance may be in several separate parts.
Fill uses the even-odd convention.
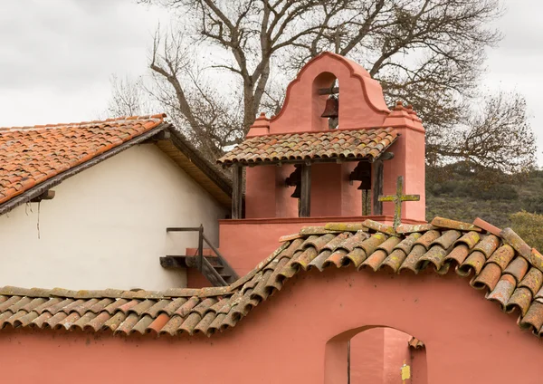
[[[428,158],[465,158],[467,149],[456,149],[458,136],[450,133],[464,135],[470,124],[475,125],[468,131],[481,130],[470,105],[478,96],[484,50],[500,40],[489,27],[500,16],[499,0],[140,2],[165,5],[180,18],[180,34],[155,38],[150,67],[159,99],[178,112],[188,136],[214,157],[243,139],[259,110],[277,111],[284,79],[323,51],[361,62],[381,82],[390,104],[414,105],[427,129]],[[205,55],[210,49],[214,54]],[[215,76],[201,83],[201,74],[210,70],[234,80],[217,82]],[[504,119],[525,119],[515,114],[520,110],[514,103],[501,103],[510,108]],[[490,135],[501,131],[493,121],[486,123]],[[468,141],[474,143],[475,137]],[[515,161],[502,162],[497,151],[473,152],[471,158],[481,166],[501,164],[514,171],[533,158],[533,145],[523,138],[513,144],[502,154],[519,155]],[[528,150],[518,151],[520,146]]]

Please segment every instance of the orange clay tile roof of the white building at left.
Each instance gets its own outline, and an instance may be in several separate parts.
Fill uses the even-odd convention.
[[[45,180],[135,138],[160,130],[166,115],[0,128],[0,208]],[[43,191],[42,191],[43,192]],[[2,209],[0,209],[0,214]]]

